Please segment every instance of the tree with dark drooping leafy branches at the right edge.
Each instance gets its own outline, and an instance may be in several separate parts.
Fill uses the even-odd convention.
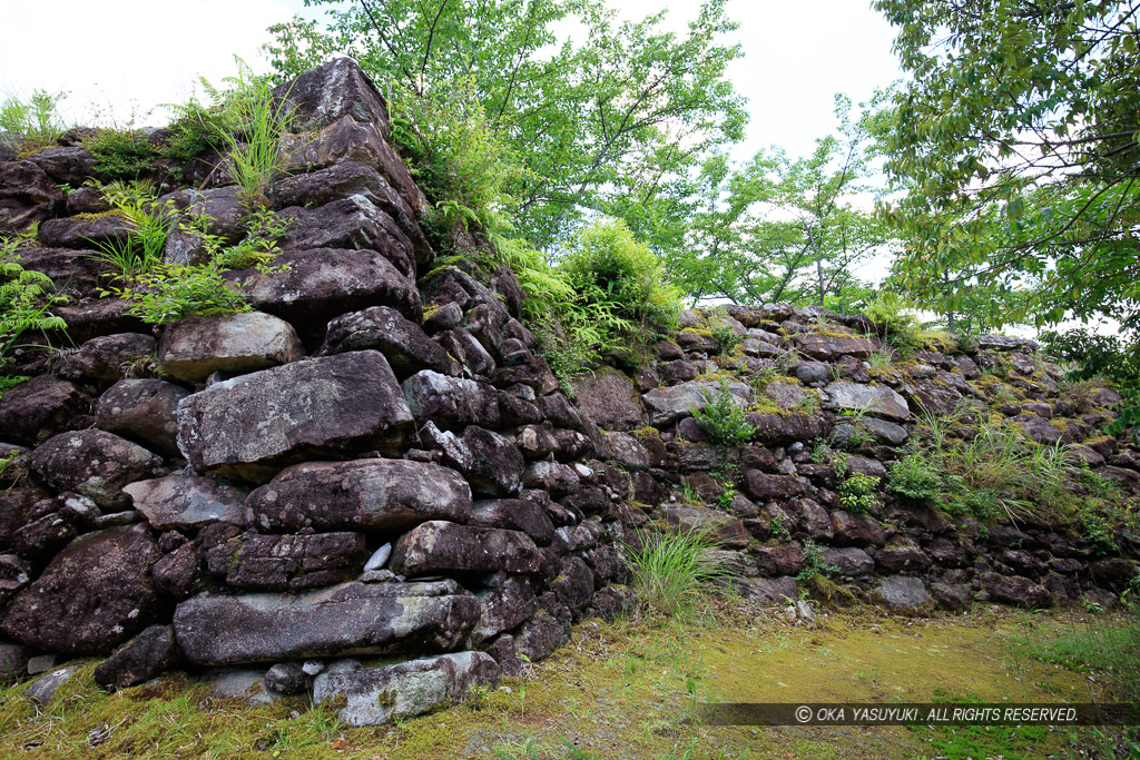
[[[906,286],[1039,324],[1140,307],[1140,2],[876,0],[912,79],[886,167]],[[996,296],[996,297],[995,297]]]

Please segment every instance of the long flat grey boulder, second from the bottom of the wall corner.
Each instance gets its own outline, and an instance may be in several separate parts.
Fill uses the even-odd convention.
[[[343,583],[304,594],[196,596],[174,635],[197,665],[300,657],[447,652],[479,621],[479,599],[454,581]]]

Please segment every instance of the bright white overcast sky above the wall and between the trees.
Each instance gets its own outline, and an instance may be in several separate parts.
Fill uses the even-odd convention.
[[[611,0],[624,16],[641,17],[660,0]],[[693,18],[699,0],[673,0],[669,22]],[[266,27],[304,9],[301,0],[55,0],[41,6],[0,0],[10,31],[0,44],[0,92],[70,92],[70,113],[92,113],[125,124],[164,103],[181,103],[198,74],[217,82],[235,72],[234,55],[264,70],[259,48]],[[806,154],[834,126],[836,92],[855,103],[899,77],[890,52],[891,27],[870,0],[730,0],[740,23],[744,58],[730,73],[749,99],[748,141],[738,158],[781,145]],[[18,30],[18,33],[11,31]],[[164,112],[150,123],[163,123]]]

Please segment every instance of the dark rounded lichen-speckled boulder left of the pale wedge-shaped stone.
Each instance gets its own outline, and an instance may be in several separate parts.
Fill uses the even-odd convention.
[[[32,452],[32,469],[57,491],[75,491],[105,509],[130,506],[123,487],[154,477],[162,459],[112,433],[60,433]]]

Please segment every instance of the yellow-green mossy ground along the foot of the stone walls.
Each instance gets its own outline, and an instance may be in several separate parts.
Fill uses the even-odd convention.
[[[850,612],[815,626],[739,602],[690,620],[587,621],[572,643],[467,704],[353,729],[300,700],[206,701],[184,677],[107,695],[93,663],[36,710],[0,692],[0,755],[154,758],[1005,758],[1097,757],[1092,732],[711,727],[705,700],[926,702],[1106,700],[1102,675],[1031,657],[1085,624],[1083,613],[985,608],[915,620]],[[1097,619],[1122,622],[1108,613]],[[1098,624],[1100,624],[1098,622]],[[962,746],[966,749],[962,750]],[[980,753],[980,754],[979,754]]]

